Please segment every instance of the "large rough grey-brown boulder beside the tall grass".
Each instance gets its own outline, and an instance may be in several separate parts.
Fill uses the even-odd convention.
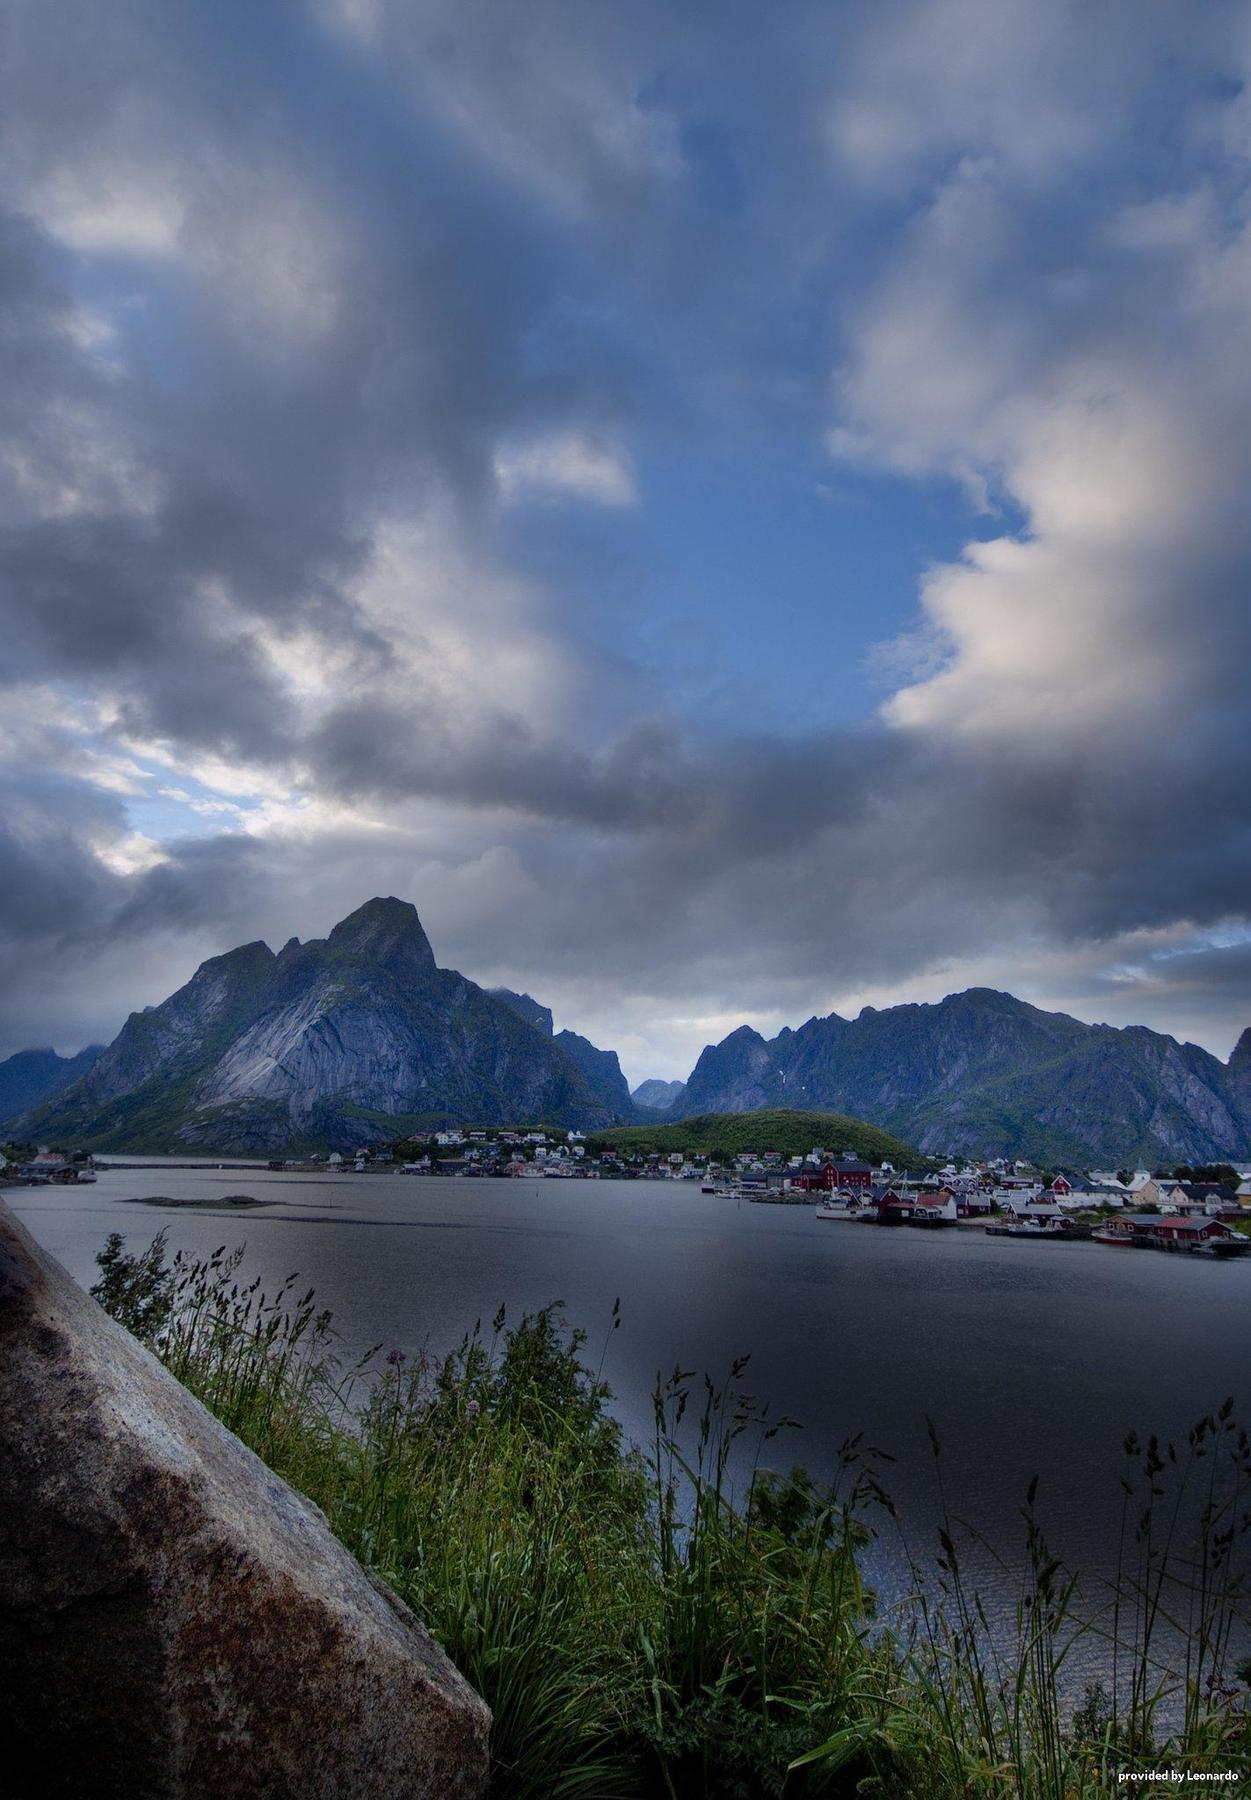
[[[4,1800],[459,1800],[490,1714],[0,1204]]]

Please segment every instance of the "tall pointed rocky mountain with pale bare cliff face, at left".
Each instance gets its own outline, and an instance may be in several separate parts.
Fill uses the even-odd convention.
[[[243,1154],[351,1148],[445,1121],[590,1129],[632,1116],[616,1057],[549,1037],[439,968],[416,909],[389,898],[329,938],[292,938],[277,956],[245,943],[202,963],[20,1125],[101,1150]]]

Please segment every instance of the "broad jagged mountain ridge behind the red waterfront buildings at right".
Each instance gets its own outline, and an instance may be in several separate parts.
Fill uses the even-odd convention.
[[[1251,1154],[1251,1031],[1228,1064],[1145,1026],[1118,1030],[968,988],[711,1044],[670,1118],[832,1107],[927,1152],[1174,1165]]]

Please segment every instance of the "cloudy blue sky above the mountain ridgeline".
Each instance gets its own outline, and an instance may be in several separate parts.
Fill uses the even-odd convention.
[[[1251,13],[11,0],[0,1055],[374,893],[684,1076],[1251,1022]]]

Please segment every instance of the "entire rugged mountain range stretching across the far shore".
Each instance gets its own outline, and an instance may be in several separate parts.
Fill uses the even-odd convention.
[[[99,1051],[0,1064],[7,1136],[101,1150],[351,1148],[443,1123],[601,1130],[711,1112],[851,1114],[929,1154],[1044,1165],[1251,1156],[1251,1030],[1228,1064],[1145,1026],[1116,1030],[970,988],[866,1006],[763,1039],[740,1026],[682,1082],[634,1096],[610,1049],[547,1006],[437,968],[403,900],[329,938],[203,963]]]

